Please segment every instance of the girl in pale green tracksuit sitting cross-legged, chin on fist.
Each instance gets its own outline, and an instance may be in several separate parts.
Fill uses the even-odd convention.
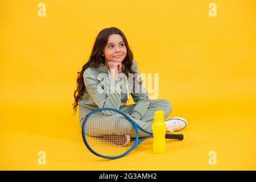
[[[123,111],[144,130],[152,133],[155,111],[163,110],[164,118],[167,118],[172,111],[170,101],[150,100],[148,97],[146,89],[142,86],[133,52],[129,48],[126,36],[118,28],[110,27],[100,31],[89,61],[82,67],[81,72],[77,73],[73,109],[76,114],[79,105],[80,126],[91,111],[102,107],[112,107]],[[129,76],[134,75],[137,76],[135,79],[137,82],[127,81]],[[118,84],[122,85],[122,88],[116,86]],[[133,105],[125,105],[129,94],[135,102]],[[177,131],[184,129],[187,121],[184,118],[175,117],[166,120],[166,124],[167,131]],[[124,135],[123,138],[123,143],[119,144],[129,143],[129,136]]]

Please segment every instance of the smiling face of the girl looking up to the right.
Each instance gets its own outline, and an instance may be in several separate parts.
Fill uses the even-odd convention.
[[[127,49],[121,35],[110,35],[104,48],[105,64],[108,65],[108,61],[121,63],[125,59],[126,53]]]

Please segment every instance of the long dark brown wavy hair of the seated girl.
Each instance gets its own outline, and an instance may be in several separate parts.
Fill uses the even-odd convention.
[[[125,34],[123,34],[123,32],[116,27],[104,28],[98,33],[96,37],[89,60],[87,61],[87,63],[85,63],[82,66],[81,72],[77,72],[77,75],[78,75],[77,81],[76,81],[77,89],[74,92],[75,103],[72,104],[73,110],[74,110],[73,115],[77,113],[77,106],[79,105],[79,101],[86,90],[86,87],[84,85],[84,78],[83,78],[84,71],[89,67],[98,68],[100,63],[105,64],[105,58],[102,55],[104,52],[104,48],[108,43],[109,36],[112,34],[121,35],[123,42],[125,42],[127,53],[126,53],[125,59],[122,61],[122,64],[125,65],[125,68],[124,68],[125,75],[128,78],[129,73],[133,73],[133,74],[136,73],[131,69],[131,65],[133,65],[133,52],[129,48],[129,44],[127,42]]]

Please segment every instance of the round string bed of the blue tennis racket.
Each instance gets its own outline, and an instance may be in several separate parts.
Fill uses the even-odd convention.
[[[135,144],[133,124],[114,110],[100,110],[90,115],[85,133],[90,148],[104,156],[122,155]]]

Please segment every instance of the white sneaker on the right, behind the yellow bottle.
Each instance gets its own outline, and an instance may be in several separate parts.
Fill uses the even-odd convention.
[[[165,122],[167,129],[171,132],[182,130],[188,125],[187,120],[180,117],[167,119]]]

